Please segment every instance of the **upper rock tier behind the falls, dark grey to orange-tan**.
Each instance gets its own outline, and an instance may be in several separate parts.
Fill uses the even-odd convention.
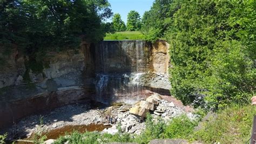
[[[164,40],[106,40],[96,46],[97,72],[168,73],[169,44]]]

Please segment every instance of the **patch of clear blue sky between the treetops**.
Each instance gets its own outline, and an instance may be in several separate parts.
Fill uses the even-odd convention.
[[[124,22],[127,22],[127,14],[131,10],[139,12],[140,17],[147,10],[150,10],[154,0],[109,0],[113,13],[120,13]],[[112,19],[107,20],[111,22]]]

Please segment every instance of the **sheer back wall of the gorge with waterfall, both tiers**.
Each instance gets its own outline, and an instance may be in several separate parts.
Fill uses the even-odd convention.
[[[145,98],[146,90],[169,95],[169,45],[159,40],[106,40],[96,45],[96,92],[102,102]]]

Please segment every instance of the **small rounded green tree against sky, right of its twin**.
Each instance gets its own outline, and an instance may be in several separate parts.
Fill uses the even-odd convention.
[[[137,11],[130,11],[127,16],[127,30],[138,31],[141,28],[141,19]]]

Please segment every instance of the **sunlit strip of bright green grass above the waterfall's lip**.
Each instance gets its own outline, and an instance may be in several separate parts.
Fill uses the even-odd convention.
[[[145,36],[139,31],[122,31],[107,33],[104,40],[145,40]]]

